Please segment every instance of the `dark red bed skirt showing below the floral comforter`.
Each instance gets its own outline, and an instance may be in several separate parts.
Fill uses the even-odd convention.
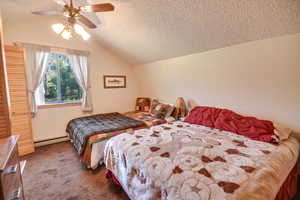
[[[118,179],[110,170],[106,170],[106,178],[113,181],[119,187],[122,187]],[[276,195],[275,200],[292,200],[297,193],[297,181],[298,181],[298,170],[297,165],[289,173],[288,177],[282,184],[279,192]]]

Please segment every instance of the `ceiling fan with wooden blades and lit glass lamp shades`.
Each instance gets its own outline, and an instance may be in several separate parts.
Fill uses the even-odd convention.
[[[73,0],[70,0],[69,3],[66,3],[65,0],[54,0],[57,4],[63,6],[62,10],[43,10],[43,11],[34,11],[32,14],[35,15],[63,15],[66,18],[64,24],[53,24],[52,29],[57,34],[61,35],[64,39],[70,39],[72,37],[72,32],[75,32],[84,40],[90,38],[90,34],[85,31],[85,29],[78,24],[81,22],[86,27],[90,29],[97,28],[97,25],[92,22],[88,17],[85,17],[82,13],[91,13],[91,12],[108,12],[114,11],[114,6],[110,3],[102,3],[95,5],[86,5],[75,7]]]

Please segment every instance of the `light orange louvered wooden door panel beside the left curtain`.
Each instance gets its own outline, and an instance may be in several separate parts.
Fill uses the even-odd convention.
[[[11,133],[20,135],[19,154],[24,155],[34,152],[24,50],[21,47],[5,46],[5,56],[10,93]]]

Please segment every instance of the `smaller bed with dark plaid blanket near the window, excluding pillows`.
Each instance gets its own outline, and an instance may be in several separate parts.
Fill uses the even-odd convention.
[[[106,113],[73,119],[66,130],[84,166],[95,169],[103,164],[104,147],[109,138],[166,122],[147,112]]]

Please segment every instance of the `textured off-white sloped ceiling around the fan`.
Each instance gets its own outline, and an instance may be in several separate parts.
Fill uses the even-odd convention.
[[[0,0],[5,20],[58,8],[51,0]],[[91,0],[111,2],[97,14],[99,42],[132,63],[146,63],[300,32],[300,0]],[[24,10],[21,10],[24,9]],[[44,17],[47,20],[47,17]]]

